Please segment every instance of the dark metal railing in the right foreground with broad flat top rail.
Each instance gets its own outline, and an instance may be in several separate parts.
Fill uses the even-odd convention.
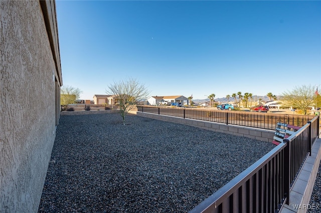
[[[291,186],[318,138],[319,116],[190,212],[276,212],[289,204]]]

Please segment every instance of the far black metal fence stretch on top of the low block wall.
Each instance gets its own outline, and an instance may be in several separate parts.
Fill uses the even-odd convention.
[[[275,130],[276,123],[282,122],[290,125],[303,126],[311,120],[313,115],[279,114],[249,111],[228,111],[217,109],[198,109],[185,107],[156,107],[137,105],[137,110],[162,115],[183,118],[213,121],[226,124],[235,124],[248,127]]]

